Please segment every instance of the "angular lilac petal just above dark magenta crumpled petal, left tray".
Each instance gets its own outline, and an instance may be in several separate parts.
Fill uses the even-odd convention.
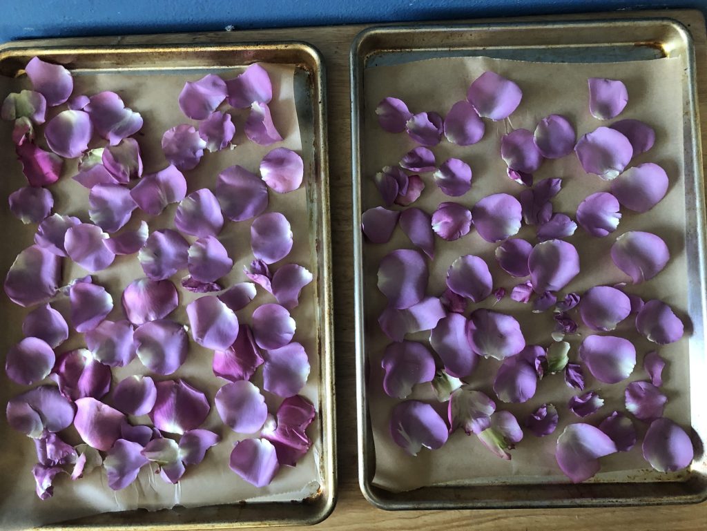
[[[194,341],[207,349],[226,350],[238,337],[238,317],[216,296],[207,295],[189,303],[187,315]]]

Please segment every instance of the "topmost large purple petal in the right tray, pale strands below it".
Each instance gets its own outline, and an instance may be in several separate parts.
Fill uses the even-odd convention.
[[[522,96],[518,85],[492,71],[481,74],[467,91],[467,100],[479,116],[492,120],[508,118],[520,105]]]

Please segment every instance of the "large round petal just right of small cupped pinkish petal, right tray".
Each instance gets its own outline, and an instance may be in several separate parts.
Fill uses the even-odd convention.
[[[520,203],[512,195],[491,194],[474,205],[472,218],[477,232],[487,242],[506,240],[520,230]]]

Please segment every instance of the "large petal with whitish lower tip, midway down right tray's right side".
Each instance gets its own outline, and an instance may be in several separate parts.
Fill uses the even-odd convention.
[[[620,235],[611,253],[614,264],[631,277],[633,284],[652,279],[670,259],[670,251],[659,236],[641,231]]]

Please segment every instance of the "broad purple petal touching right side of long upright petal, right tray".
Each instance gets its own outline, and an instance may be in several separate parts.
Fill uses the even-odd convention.
[[[514,317],[491,310],[474,310],[467,322],[467,339],[479,356],[503,360],[525,348],[525,338]]]

